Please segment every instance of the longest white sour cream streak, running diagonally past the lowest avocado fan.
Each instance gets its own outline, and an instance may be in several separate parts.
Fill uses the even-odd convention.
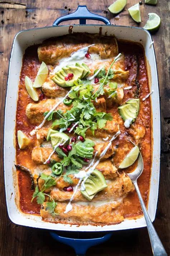
[[[80,175],[79,175],[79,174],[75,174],[75,177],[76,177],[76,178],[80,177],[80,180],[79,180],[79,182],[77,183],[77,185],[76,185],[76,187],[75,187],[74,193],[72,194],[72,196],[71,196],[71,198],[70,198],[70,200],[69,200],[69,203],[68,203],[67,206],[66,206],[66,210],[65,210],[64,213],[67,213],[67,212],[69,212],[69,211],[72,210],[71,202],[72,202],[72,200],[74,199],[74,196],[75,196],[75,194],[76,194],[76,192],[77,192],[77,189],[78,189],[78,187],[79,187],[81,181],[83,180],[83,178],[85,178],[85,179],[83,180],[82,184],[81,184],[81,190],[85,190],[85,185],[84,185],[85,181],[89,178],[90,174],[94,171],[95,167],[99,164],[101,158],[104,157],[104,155],[105,155],[106,152],[108,151],[108,148],[110,147],[110,145],[112,145],[112,141],[113,141],[115,138],[117,138],[117,136],[118,136],[120,133],[121,133],[121,132],[118,131],[118,132],[112,137],[112,139],[109,140],[109,143],[108,143],[107,147],[101,152],[99,159],[95,162],[95,164],[93,165],[93,167],[91,167],[91,168],[89,169],[89,171],[87,171],[87,172],[85,172],[85,171],[80,171],[80,172],[79,172]],[[96,151],[96,152],[97,152],[97,151]],[[97,152],[97,153],[98,153],[98,152]],[[94,159],[95,159],[97,153],[95,153]],[[93,161],[92,161],[92,162],[93,162]],[[89,165],[88,167],[90,167],[90,165]],[[86,167],[86,168],[87,168],[87,167]]]

